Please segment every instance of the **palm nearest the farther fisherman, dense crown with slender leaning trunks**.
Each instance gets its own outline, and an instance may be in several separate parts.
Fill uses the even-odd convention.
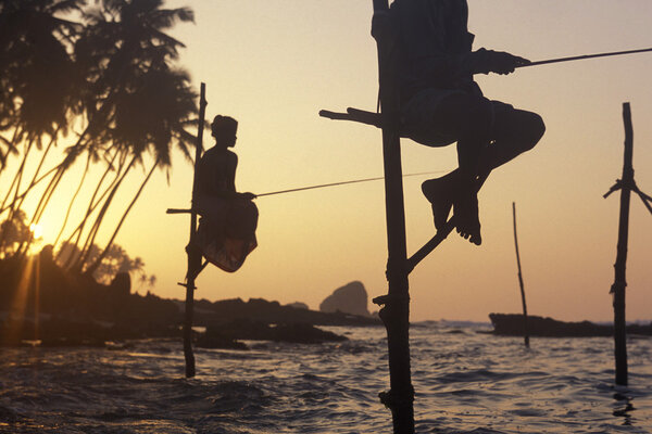
[[[171,68],[171,62],[177,59],[178,49],[184,46],[164,34],[176,22],[192,21],[192,12],[186,8],[163,10],[161,0],[104,0],[101,3],[101,8],[86,14],[90,25],[76,46],[79,62],[98,65],[96,69],[89,66],[92,91],[86,101],[88,117],[89,123],[101,119],[108,127],[98,135],[101,141],[110,142],[110,149],[128,152],[130,158],[124,159],[116,169],[122,175],[96,216],[82,248],[83,256],[75,266],[77,269],[88,257],[122,180],[142,163],[148,148],[153,145],[156,150],[154,166],[127,207],[108,247],[153,169],[170,166],[172,140],[189,156],[185,143],[191,136],[181,125],[197,112],[188,76]]]

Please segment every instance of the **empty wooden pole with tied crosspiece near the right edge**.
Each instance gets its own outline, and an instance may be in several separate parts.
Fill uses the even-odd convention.
[[[623,104],[623,122],[625,124],[625,157],[623,178],[620,180],[620,216],[618,225],[618,245],[615,278],[611,292],[614,306],[614,355],[616,359],[616,384],[627,385],[627,332],[625,329],[625,268],[627,265],[627,238],[629,232],[629,200],[634,186],[634,128],[629,103]]]

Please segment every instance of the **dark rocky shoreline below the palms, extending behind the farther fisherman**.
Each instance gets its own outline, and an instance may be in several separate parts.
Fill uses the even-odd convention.
[[[27,283],[24,283],[27,282]],[[103,346],[108,342],[146,337],[178,337],[184,302],[130,291],[127,273],[112,283],[62,270],[41,253],[17,260],[0,260],[0,346]],[[316,326],[378,326],[369,316],[323,312],[304,305],[240,298],[195,303],[198,344],[242,347],[237,340],[297,343],[339,341]]]

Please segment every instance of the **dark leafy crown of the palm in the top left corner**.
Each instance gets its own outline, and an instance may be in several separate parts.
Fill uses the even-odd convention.
[[[80,26],[59,17],[84,0],[5,0],[0,8],[0,61],[5,101],[13,104],[14,126],[25,133],[52,136],[66,125],[77,82],[68,52]]]

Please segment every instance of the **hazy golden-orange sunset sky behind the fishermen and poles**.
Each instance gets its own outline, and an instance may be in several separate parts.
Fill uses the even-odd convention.
[[[649,0],[469,0],[474,48],[532,61],[652,47]],[[380,131],[321,118],[322,108],[375,110],[377,59],[371,0],[174,0],[196,24],[173,35],[186,43],[179,65],[208,87],[206,118],[239,120],[236,187],[265,193],[383,176]],[[622,104],[631,103],[636,180],[652,193],[652,54],[523,68],[476,76],[485,94],[539,113],[539,145],[496,170],[482,189],[484,243],[451,237],[411,275],[412,319],[488,320],[521,309],[512,202],[529,312],[563,320],[611,320],[618,195],[602,199],[623,166]],[[212,145],[210,137],[204,146]],[[403,173],[448,171],[455,149],[403,140]],[[437,176],[437,175],[434,175]],[[71,175],[73,184],[74,174]],[[426,177],[404,180],[409,255],[434,234]],[[134,179],[131,191],[140,179]],[[177,155],[170,183],[156,174],[117,243],[156,275],[152,290],[184,297],[192,167]],[[2,181],[3,182],[3,181]],[[63,203],[63,202],[62,202]],[[197,298],[323,298],[350,281],[369,296],[387,291],[381,181],[256,200],[259,247],[240,271],[209,267]],[[59,221],[62,205],[48,217]],[[55,237],[43,222],[43,238]],[[652,319],[652,215],[631,202],[627,318]],[[136,285],[137,286],[137,285]],[[375,307],[369,306],[369,309]]]

